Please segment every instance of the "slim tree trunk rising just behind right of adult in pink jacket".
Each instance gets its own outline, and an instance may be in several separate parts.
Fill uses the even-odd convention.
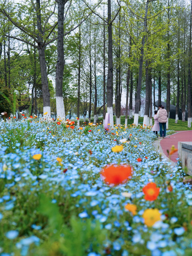
[[[168,59],[168,67],[167,67],[167,123],[166,128],[168,129],[169,125],[169,115],[170,115],[170,43],[169,43],[169,29],[170,29],[170,18],[169,18],[169,0],[168,0],[168,30],[167,30],[167,59]]]

